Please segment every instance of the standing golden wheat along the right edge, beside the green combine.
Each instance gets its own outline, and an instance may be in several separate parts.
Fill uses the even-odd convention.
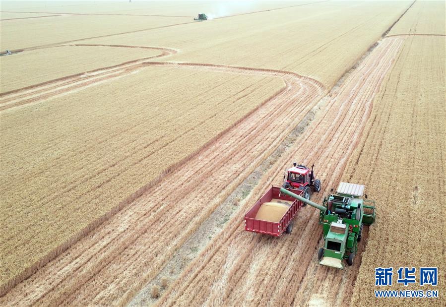
[[[399,33],[434,34],[445,23],[445,3],[414,5],[401,19]],[[443,17],[439,9],[443,7]],[[428,17],[434,18],[435,22]],[[414,25],[419,26],[414,27]],[[435,24],[435,26],[433,26]],[[431,32],[432,30],[432,32]],[[391,34],[390,32],[389,34]],[[408,36],[401,56],[375,101],[374,122],[350,160],[345,180],[363,182],[379,203],[376,225],[353,294],[355,306],[416,304],[444,306],[446,299],[376,299],[371,276],[376,267],[393,267],[393,285],[385,290],[414,290],[395,282],[399,267],[438,267],[438,286],[423,290],[445,293],[445,79],[443,36]]]

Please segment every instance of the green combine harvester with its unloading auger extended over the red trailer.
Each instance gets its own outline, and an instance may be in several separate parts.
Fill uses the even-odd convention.
[[[324,246],[319,248],[319,264],[343,269],[342,259],[352,265],[364,225],[375,222],[375,201],[368,200],[364,185],[340,183],[336,193],[323,199],[322,206],[285,188],[280,191],[320,210]],[[333,190],[333,189],[332,189]]]

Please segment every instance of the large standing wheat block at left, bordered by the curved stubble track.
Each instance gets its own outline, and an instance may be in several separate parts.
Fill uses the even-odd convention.
[[[284,84],[268,76],[140,69],[119,82],[1,113],[3,289]],[[147,79],[150,87],[141,86]]]

